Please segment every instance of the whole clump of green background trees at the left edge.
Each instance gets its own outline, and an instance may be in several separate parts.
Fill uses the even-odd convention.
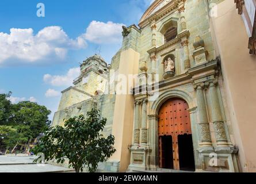
[[[2,141],[5,148],[25,144],[44,133],[51,124],[48,120],[51,111],[45,106],[29,101],[12,104],[9,100],[11,95],[12,92],[0,94],[0,127],[2,132],[7,131]]]

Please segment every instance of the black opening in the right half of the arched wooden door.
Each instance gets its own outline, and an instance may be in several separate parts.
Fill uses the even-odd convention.
[[[195,171],[192,135],[179,135],[179,169]]]

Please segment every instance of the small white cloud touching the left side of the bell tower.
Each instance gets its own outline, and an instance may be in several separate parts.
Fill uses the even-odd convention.
[[[80,68],[71,68],[66,75],[44,75],[44,82],[52,86],[72,86],[75,78],[80,74]]]

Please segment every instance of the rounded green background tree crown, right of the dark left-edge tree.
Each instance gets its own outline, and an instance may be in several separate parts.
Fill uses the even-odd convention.
[[[40,133],[44,133],[51,124],[51,121],[48,120],[51,111],[35,102],[22,101],[14,104],[12,114],[10,123],[13,126],[29,126],[29,136],[33,138],[37,137]]]

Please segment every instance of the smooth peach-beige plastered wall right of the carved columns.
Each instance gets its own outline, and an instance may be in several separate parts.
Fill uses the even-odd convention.
[[[239,147],[240,168],[256,172],[256,59],[249,54],[249,36],[234,1],[217,5],[212,18],[221,69],[230,109],[234,139]]]

